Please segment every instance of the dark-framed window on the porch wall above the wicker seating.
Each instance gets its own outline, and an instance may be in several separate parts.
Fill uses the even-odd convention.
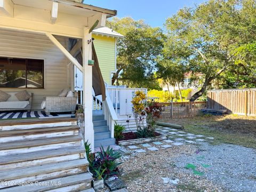
[[[0,57],[0,87],[44,88],[44,60]]]

